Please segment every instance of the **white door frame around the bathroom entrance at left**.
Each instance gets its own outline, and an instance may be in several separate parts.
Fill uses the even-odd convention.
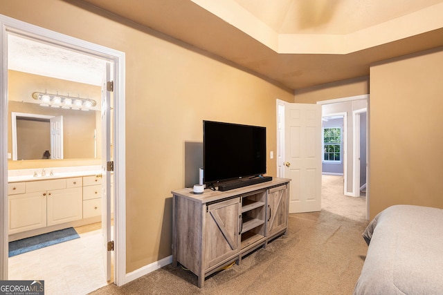
[[[0,15],[0,280],[8,280],[8,33],[80,51],[114,63],[114,283],[126,281],[125,53]]]

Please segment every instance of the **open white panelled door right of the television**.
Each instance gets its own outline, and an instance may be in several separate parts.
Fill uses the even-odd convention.
[[[321,106],[284,105],[284,177],[289,213],[321,210]]]

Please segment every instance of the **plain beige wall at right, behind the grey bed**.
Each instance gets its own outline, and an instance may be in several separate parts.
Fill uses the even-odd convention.
[[[370,217],[392,204],[443,208],[443,48],[370,69]]]

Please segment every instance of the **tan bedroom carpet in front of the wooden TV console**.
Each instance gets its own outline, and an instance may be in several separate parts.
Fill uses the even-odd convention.
[[[253,252],[241,265],[209,276],[203,289],[196,286],[197,276],[168,265],[122,287],[108,285],[91,294],[352,294],[367,251],[361,233],[368,221],[361,213],[364,206],[357,214],[352,199],[352,212],[345,213],[352,218],[334,213],[344,214],[347,205],[342,204],[343,193],[332,195],[324,196],[331,203],[327,209],[290,214],[287,236]]]

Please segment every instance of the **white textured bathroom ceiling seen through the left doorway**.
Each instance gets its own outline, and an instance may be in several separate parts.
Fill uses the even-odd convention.
[[[8,35],[8,68],[101,86],[105,61],[42,41]]]

